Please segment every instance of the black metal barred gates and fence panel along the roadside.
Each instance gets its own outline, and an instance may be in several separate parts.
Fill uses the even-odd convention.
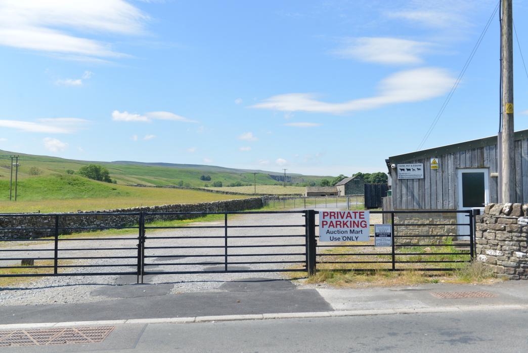
[[[389,247],[374,246],[373,231],[367,242],[320,242],[316,210],[4,213],[0,277],[135,275],[139,283],[145,276],[180,274],[452,271],[473,259],[471,210],[436,212],[464,213],[463,224],[399,221],[403,213],[431,211],[371,211],[371,219],[384,213],[394,230]],[[203,216],[214,219],[169,222]],[[76,217],[93,221],[76,225]],[[458,226],[467,234],[453,234]],[[7,238],[10,232],[16,237]],[[454,236],[467,241],[454,245]]]

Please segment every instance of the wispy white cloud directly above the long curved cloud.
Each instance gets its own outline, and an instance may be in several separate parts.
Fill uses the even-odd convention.
[[[344,58],[381,64],[421,63],[420,54],[431,44],[398,38],[364,37],[348,39],[334,53]]]

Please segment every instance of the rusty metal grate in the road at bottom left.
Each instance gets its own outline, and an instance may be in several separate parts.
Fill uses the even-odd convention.
[[[0,347],[97,343],[112,330],[114,326],[0,331]]]

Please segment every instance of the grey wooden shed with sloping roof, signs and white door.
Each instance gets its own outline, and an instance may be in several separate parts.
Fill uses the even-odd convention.
[[[389,157],[384,209],[463,210],[498,199],[497,136]],[[528,130],[515,133],[515,190],[528,203]]]

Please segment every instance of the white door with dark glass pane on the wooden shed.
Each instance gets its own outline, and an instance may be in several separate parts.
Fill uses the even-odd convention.
[[[489,170],[459,169],[458,170],[458,210],[482,208],[489,202]],[[457,213],[457,223],[469,223],[464,213]],[[469,235],[469,226],[458,226],[459,235]],[[460,240],[469,240],[460,237]]]

